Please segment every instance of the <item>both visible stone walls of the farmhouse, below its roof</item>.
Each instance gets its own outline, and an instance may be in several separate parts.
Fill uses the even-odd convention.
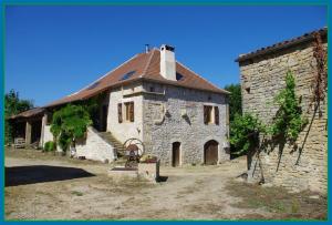
[[[152,91],[153,90],[153,91]],[[118,122],[118,103],[134,103],[134,122]],[[218,106],[219,124],[204,123],[204,105]],[[122,143],[136,137],[146,153],[172,164],[173,143],[180,143],[179,165],[204,163],[204,146],[218,143],[218,162],[229,160],[227,95],[152,82],[110,92],[107,131]]]

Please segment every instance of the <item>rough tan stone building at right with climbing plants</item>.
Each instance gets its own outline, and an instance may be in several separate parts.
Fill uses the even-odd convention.
[[[258,115],[266,124],[271,122],[278,106],[273,98],[286,85],[286,74],[292,71],[295,78],[295,93],[301,99],[302,111],[309,124],[297,140],[299,149],[286,144],[277,145],[269,153],[261,153],[261,166],[255,155],[249,165],[248,178],[282,185],[288,188],[326,192],[328,170],[328,112],[326,96],[312,102],[315,88],[326,94],[323,85],[318,84],[320,59],[318,51],[326,58],[328,29],[307,33],[255,52],[241,54],[236,60],[240,67],[243,112]],[[324,78],[322,78],[324,80]],[[326,80],[326,73],[325,73]],[[280,154],[281,153],[281,154]]]

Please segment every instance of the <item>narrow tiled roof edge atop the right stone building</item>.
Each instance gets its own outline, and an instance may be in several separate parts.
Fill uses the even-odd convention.
[[[241,62],[241,61],[246,61],[259,55],[263,55],[263,54],[269,54],[269,53],[273,53],[276,51],[280,51],[290,47],[293,47],[294,44],[299,44],[299,43],[303,43],[307,41],[312,41],[314,39],[314,34],[315,33],[320,33],[323,37],[326,37],[328,34],[328,28],[322,28],[320,30],[315,30],[309,33],[304,33],[303,35],[290,39],[290,40],[286,40],[282,42],[278,42],[276,44],[269,45],[269,47],[264,47],[261,49],[258,49],[256,51],[246,53],[246,54],[240,54],[238,57],[238,59],[236,59],[236,62]]]

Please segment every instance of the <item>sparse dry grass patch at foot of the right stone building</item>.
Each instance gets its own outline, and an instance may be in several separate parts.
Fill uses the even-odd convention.
[[[230,195],[241,197],[235,207],[263,208],[273,214],[274,219],[326,219],[326,196],[304,191],[289,193],[283,187],[262,187],[257,184],[230,182],[227,184]],[[310,198],[319,195],[319,198]]]

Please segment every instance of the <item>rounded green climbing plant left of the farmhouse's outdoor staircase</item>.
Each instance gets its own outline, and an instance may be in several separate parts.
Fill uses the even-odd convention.
[[[51,132],[61,149],[66,151],[76,139],[84,136],[86,127],[91,124],[86,108],[68,104],[54,112]]]

